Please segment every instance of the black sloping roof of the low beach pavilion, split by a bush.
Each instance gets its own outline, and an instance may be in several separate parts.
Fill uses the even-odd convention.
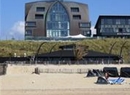
[[[51,53],[44,53],[44,54],[39,54],[37,56],[38,58],[74,58],[74,51],[73,50],[59,50],[59,51],[54,51]],[[113,55],[113,54],[107,54],[107,53],[102,53],[102,52],[97,52],[97,51],[92,51],[89,50],[88,53],[84,56],[85,58],[120,58],[118,55]]]

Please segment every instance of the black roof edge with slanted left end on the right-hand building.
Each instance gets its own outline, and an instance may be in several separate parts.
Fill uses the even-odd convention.
[[[102,18],[130,18],[130,15],[100,15],[97,19],[95,28],[98,26],[98,23]]]

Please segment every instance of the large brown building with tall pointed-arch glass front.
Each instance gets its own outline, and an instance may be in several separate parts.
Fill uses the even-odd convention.
[[[91,36],[87,4],[46,0],[25,4],[25,40]]]

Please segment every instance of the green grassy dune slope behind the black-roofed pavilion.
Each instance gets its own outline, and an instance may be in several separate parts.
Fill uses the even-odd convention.
[[[80,45],[89,46],[89,50],[100,51],[109,53],[110,48],[113,43],[114,45],[112,49],[112,54],[120,55],[120,50],[123,43],[126,44],[123,47],[122,57],[124,58],[126,63],[130,63],[130,39],[87,39],[77,42],[47,42],[43,44],[39,53],[49,52],[51,48],[57,43],[57,45],[53,48],[53,51],[58,50],[60,45],[67,45],[72,43],[77,43]],[[39,45],[42,42],[33,42],[33,41],[0,41],[0,56],[14,56],[14,53],[17,56],[24,56],[24,53],[29,55],[36,54],[36,51]]]

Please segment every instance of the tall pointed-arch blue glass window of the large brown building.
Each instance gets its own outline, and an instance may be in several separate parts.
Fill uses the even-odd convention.
[[[46,29],[47,37],[65,37],[69,35],[69,16],[61,3],[55,3],[49,10]]]

